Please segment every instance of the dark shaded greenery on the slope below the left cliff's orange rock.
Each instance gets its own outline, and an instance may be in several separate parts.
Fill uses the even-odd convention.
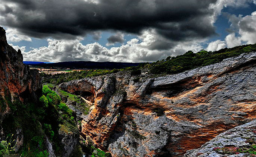
[[[19,99],[12,101],[9,90],[5,90],[4,97],[1,97],[0,100],[11,110],[10,114],[4,116],[1,123],[5,137],[0,138],[0,156],[14,153],[14,151],[10,151],[13,150],[13,147],[21,147],[17,152],[21,157],[47,157],[48,152],[44,144],[45,134],[39,121],[37,105],[22,103]],[[22,146],[17,143],[16,135],[20,136],[20,140],[23,136]]]

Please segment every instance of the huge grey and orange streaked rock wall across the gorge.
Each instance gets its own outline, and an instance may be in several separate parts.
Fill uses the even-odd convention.
[[[112,156],[180,157],[256,118],[255,63],[251,52],[155,79],[119,72],[59,88],[93,93],[81,133]]]

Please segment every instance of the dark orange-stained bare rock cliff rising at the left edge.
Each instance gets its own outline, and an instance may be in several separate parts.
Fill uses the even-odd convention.
[[[0,27],[0,96],[6,93],[11,99],[25,101],[28,97],[35,99],[41,89],[41,79],[38,71],[30,70],[23,64],[21,51],[18,52],[7,44],[5,31]],[[3,115],[9,112],[8,104],[0,106],[0,122]]]

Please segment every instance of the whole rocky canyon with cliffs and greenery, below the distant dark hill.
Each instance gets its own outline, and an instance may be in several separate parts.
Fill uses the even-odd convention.
[[[3,157],[256,155],[256,44],[54,70],[23,64],[0,28]]]

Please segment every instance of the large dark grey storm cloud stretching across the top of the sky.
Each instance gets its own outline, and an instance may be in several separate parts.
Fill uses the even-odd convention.
[[[0,0],[1,24],[28,36],[72,38],[87,32],[141,33],[154,28],[172,41],[215,34],[208,9],[216,0]],[[16,4],[16,7],[8,5]]]

